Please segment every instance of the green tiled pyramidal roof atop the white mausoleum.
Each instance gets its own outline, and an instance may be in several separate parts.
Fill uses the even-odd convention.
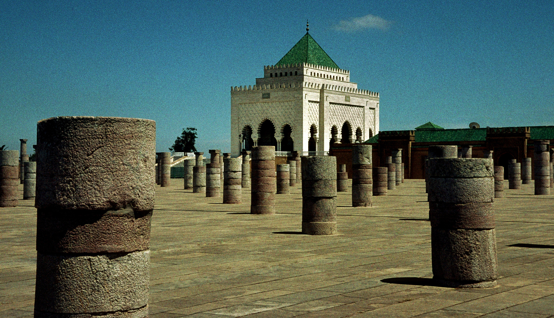
[[[338,65],[325,53],[315,42],[309,33],[294,45],[285,56],[280,59],[277,65],[310,63],[338,69]]]

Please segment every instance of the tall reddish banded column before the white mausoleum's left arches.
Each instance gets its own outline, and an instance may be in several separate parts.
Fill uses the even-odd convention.
[[[275,147],[252,148],[250,213],[275,214]]]

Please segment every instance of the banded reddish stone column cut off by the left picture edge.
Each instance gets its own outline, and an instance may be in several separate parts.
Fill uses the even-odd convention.
[[[19,151],[0,150],[0,207],[19,204]]]

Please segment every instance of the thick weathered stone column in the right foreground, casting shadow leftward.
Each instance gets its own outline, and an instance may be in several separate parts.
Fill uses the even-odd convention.
[[[496,285],[493,162],[429,159],[433,279],[456,288]]]

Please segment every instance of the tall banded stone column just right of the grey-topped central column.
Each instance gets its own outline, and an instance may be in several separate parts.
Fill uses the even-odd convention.
[[[352,207],[372,205],[371,151],[371,145],[352,146]]]

